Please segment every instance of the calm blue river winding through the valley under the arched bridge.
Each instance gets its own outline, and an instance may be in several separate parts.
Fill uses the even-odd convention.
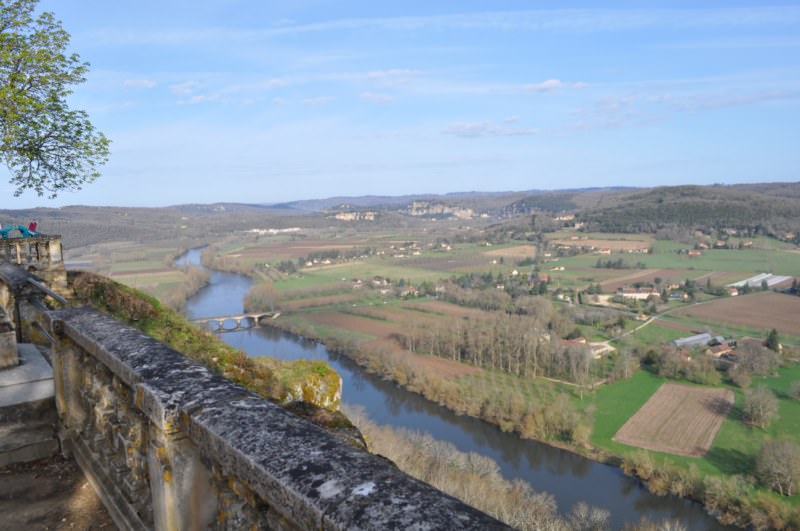
[[[200,254],[200,249],[193,249],[176,263],[198,265]],[[212,271],[211,283],[189,299],[187,317],[241,314],[244,294],[251,285],[252,280],[242,275]],[[585,501],[608,509],[613,529],[622,529],[626,522],[637,522],[643,516],[653,520],[674,518],[691,530],[729,529],[696,503],[675,496],[655,496],[616,467],[523,440],[487,422],[456,415],[418,394],[364,372],[350,359],[330,353],[316,342],[275,328],[227,332],[220,337],[251,356],[327,360],[342,377],[345,403],[363,407],[380,424],[428,432],[461,451],[491,457],[507,479],[523,479],[535,490],[551,493],[562,513]]]

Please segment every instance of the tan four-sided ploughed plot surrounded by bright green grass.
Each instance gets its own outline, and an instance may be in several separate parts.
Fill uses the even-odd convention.
[[[657,452],[702,457],[728,415],[734,394],[665,383],[620,428],[614,440]]]

